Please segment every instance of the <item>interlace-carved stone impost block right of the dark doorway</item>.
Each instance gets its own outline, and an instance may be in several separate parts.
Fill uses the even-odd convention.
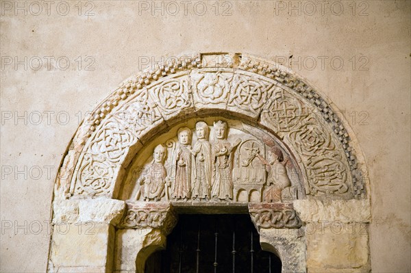
[[[256,229],[299,229],[301,220],[292,208],[284,203],[249,203],[249,213]]]

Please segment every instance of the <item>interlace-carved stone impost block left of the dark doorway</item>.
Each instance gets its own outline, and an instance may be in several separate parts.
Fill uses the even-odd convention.
[[[127,203],[120,229],[160,229],[168,235],[177,224],[177,213],[170,203]]]

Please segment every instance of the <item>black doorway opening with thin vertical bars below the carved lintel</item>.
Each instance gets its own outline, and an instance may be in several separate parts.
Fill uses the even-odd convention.
[[[280,259],[260,247],[249,215],[180,215],[166,250],[153,253],[146,273],[277,273]]]

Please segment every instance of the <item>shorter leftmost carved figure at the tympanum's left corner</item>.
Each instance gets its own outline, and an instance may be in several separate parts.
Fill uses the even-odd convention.
[[[164,168],[164,158],[166,157],[166,147],[161,144],[154,148],[153,161],[145,170],[138,183],[142,185],[141,194],[145,201],[159,201],[165,194],[164,184],[166,183],[166,169]]]

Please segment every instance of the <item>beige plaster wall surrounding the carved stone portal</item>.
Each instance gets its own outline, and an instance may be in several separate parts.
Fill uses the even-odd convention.
[[[147,60],[199,51],[286,60],[345,113],[370,170],[373,272],[411,271],[410,1],[0,4],[1,272],[45,272],[55,173],[86,112]]]

